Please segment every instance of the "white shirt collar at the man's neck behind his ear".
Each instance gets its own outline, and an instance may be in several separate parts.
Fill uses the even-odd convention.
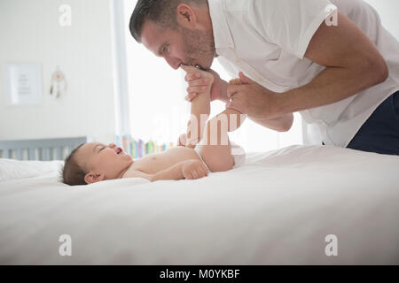
[[[223,9],[223,0],[210,0],[207,3],[209,4],[209,13],[214,30],[215,49],[234,48],[231,31]]]

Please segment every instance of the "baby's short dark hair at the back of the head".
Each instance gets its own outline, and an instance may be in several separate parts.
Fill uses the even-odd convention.
[[[76,162],[76,152],[78,149],[82,147],[85,143],[82,143],[76,149],[72,150],[68,157],[65,159],[64,168],[62,169],[62,182],[69,186],[79,186],[79,185],[87,185],[84,180],[84,176],[86,176],[86,172],[82,169],[79,164]]]

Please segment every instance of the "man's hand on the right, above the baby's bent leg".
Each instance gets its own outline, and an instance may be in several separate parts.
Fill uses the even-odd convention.
[[[240,113],[247,114],[254,119],[272,119],[278,115],[277,93],[262,87],[254,80],[249,79],[244,73],[239,73],[243,84],[229,85],[227,96],[230,101],[226,108],[231,108]]]

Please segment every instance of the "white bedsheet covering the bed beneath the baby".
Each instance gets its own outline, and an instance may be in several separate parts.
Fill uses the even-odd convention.
[[[399,264],[399,157],[292,146],[201,180],[57,179],[0,182],[0,264]]]

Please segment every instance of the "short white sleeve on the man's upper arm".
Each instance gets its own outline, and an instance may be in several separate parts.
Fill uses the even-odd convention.
[[[251,0],[248,18],[266,41],[302,59],[318,27],[336,9],[329,0]]]

